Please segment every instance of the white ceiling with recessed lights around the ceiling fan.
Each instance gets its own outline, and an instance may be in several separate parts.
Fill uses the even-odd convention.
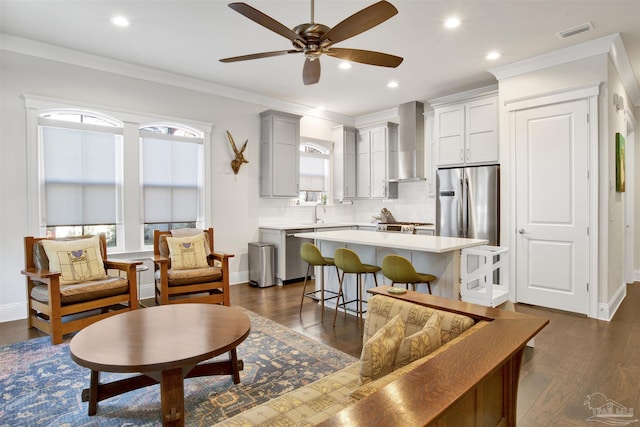
[[[334,26],[374,0],[317,0],[315,22]],[[391,0],[399,13],[336,47],[376,50],[404,58],[398,68],[354,64],[323,56],[316,85],[302,83],[302,55],[223,64],[220,58],[290,49],[290,42],[227,7],[221,0],[0,0],[3,35],[242,89],[303,106],[356,117],[496,83],[487,70],[606,35],[620,33],[640,82],[640,0]],[[309,22],[306,0],[247,0],[288,27]],[[110,18],[123,14],[128,28]],[[462,25],[443,27],[450,15]],[[591,22],[567,39],[556,33]],[[55,50],[52,48],[52,50]],[[502,57],[484,56],[498,50]],[[387,82],[399,83],[388,89]],[[640,86],[640,83],[638,83]]]

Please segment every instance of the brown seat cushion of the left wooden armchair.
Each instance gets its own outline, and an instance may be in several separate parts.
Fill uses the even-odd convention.
[[[60,302],[62,305],[93,301],[129,291],[129,281],[126,277],[106,277],[101,280],[74,283],[60,286]],[[44,304],[49,302],[49,287],[36,284],[31,290],[31,298]]]

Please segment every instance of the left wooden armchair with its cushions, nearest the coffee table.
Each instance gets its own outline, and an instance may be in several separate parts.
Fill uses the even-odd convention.
[[[24,238],[28,322],[60,344],[62,336],[138,308],[136,265],[107,259],[104,233]],[[109,276],[109,270],[125,274]]]

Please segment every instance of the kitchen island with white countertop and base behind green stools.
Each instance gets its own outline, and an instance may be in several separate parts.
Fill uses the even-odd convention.
[[[333,257],[337,248],[347,247],[355,251],[360,260],[366,264],[381,266],[385,256],[389,254],[401,255],[411,261],[417,271],[433,274],[437,277],[431,283],[434,295],[452,299],[460,299],[461,250],[488,243],[484,239],[381,233],[364,230],[318,230],[311,233],[295,233],[294,236],[315,240],[322,254],[327,257]],[[316,272],[316,277],[321,277],[319,271]],[[370,277],[367,277],[366,280],[366,289],[375,286]],[[334,269],[325,271],[325,281],[325,290],[338,291],[338,278]],[[391,283],[380,273],[378,285],[384,284],[390,285]],[[317,284],[318,289],[319,286],[320,284]],[[347,301],[353,299],[356,292],[355,278],[347,276],[343,290]],[[417,290],[426,292],[426,285],[418,285]]]

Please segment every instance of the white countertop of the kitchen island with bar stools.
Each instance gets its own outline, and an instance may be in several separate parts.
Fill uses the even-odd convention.
[[[419,234],[380,233],[365,230],[315,231],[295,233],[295,237],[343,242],[383,248],[406,249],[411,251],[446,253],[473,246],[486,245],[488,240],[465,239],[460,237],[439,237]]]

